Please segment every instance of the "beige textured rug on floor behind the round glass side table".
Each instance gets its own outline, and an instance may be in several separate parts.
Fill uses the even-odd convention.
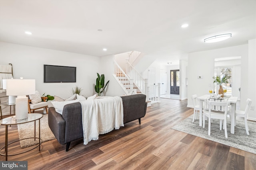
[[[19,133],[20,139],[34,137],[34,121],[29,123],[19,124],[18,133]],[[38,136],[39,136],[38,120],[36,120],[36,137]],[[55,139],[55,136],[53,135],[50,127],[48,126],[48,115],[44,115],[40,119],[40,137],[42,139],[42,142]],[[38,144],[38,139],[36,139],[36,141],[34,141],[34,139],[26,139],[26,140],[20,141],[21,148],[30,147],[36,144]]]

